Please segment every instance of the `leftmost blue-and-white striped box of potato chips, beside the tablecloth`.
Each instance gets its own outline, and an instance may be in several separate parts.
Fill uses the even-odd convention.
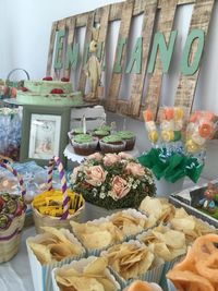
[[[80,259],[86,252],[77,239],[66,229],[44,227],[44,233],[26,241],[34,289],[52,291],[51,270]]]

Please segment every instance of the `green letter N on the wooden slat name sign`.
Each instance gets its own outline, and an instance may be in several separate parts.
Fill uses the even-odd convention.
[[[155,34],[155,38],[153,43],[153,50],[152,50],[149,63],[148,63],[148,73],[154,72],[158,48],[159,48],[160,60],[162,64],[162,72],[164,73],[168,72],[171,57],[172,57],[173,47],[174,47],[175,37],[177,37],[177,31],[172,31],[170,33],[169,45],[167,47],[164,34],[160,32],[157,32]]]

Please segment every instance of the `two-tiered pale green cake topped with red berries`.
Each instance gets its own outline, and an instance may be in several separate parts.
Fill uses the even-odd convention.
[[[62,81],[24,81],[16,92],[21,105],[43,106],[81,106],[84,104],[81,92],[73,92],[71,82]]]

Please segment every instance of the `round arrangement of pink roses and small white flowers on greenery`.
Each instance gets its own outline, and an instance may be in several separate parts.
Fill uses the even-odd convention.
[[[150,170],[125,153],[88,156],[74,168],[71,183],[86,202],[106,209],[136,208],[156,192]]]

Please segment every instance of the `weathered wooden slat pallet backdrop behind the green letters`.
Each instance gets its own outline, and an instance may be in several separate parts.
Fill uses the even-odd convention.
[[[108,39],[108,29],[110,23],[113,21],[120,21],[119,38],[124,41],[121,56],[119,54],[119,41],[114,49],[116,56],[112,64],[111,80],[106,80],[108,87],[108,94],[105,96],[102,102],[106,109],[131,116],[133,118],[142,119],[142,112],[149,108],[157,116],[161,97],[162,87],[162,63],[159,56],[159,50],[157,50],[157,57],[154,64],[154,71],[148,73],[148,61],[149,53],[153,48],[154,35],[156,32],[161,32],[165,37],[166,46],[169,45],[170,33],[173,28],[173,21],[177,14],[179,5],[193,4],[192,19],[190,24],[190,32],[192,29],[202,29],[204,32],[204,37],[209,28],[209,21],[213,11],[215,0],[126,0],[119,3],[109,4],[102,8],[98,8],[94,11],[73,15],[52,24],[51,35],[50,35],[50,46],[48,51],[48,63],[47,63],[47,75],[53,75],[57,78],[62,76],[71,76],[71,68],[64,68],[66,46],[73,46],[75,43],[75,29],[78,27],[85,27],[85,41],[83,48],[83,56],[78,60],[82,64],[82,70],[78,76],[78,84],[75,88],[82,90],[85,94],[86,87],[86,75],[83,71],[83,66],[87,61],[88,57],[88,45],[92,40],[92,28],[93,26],[100,25],[99,31],[99,51],[98,58],[104,65],[106,43]],[[131,25],[134,16],[143,15],[142,24],[142,65],[141,71],[137,73],[132,73],[131,78],[131,90],[130,98],[126,96],[120,96],[120,88],[123,74],[125,70],[122,68],[126,62],[128,56],[128,38],[131,37]],[[155,29],[156,28],[156,29]],[[53,69],[53,56],[56,48],[57,33],[60,29],[64,29],[68,33],[61,38],[61,49],[58,53],[58,60],[61,61],[63,65],[61,68]],[[65,44],[65,46],[64,46]],[[193,41],[191,46],[191,51],[189,56],[189,63],[194,61],[195,52],[197,48],[197,41]],[[154,48],[153,48],[154,49]],[[119,56],[118,56],[119,54]],[[114,70],[114,64],[117,59],[120,57],[121,71]],[[201,65],[197,68],[196,72],[191,75],[180,74],[179,84],[177,88],[177,94],[174,96],[175,106],[184,106],[186,111],[190,113],[192,111],[193,100],[195,97],[195,89],[198,81]],[[148,74],[148,84],[145,92],[145,98],[143,98],[144,83],[146,74]],[[144,101],[143,101],[144,99]]]

